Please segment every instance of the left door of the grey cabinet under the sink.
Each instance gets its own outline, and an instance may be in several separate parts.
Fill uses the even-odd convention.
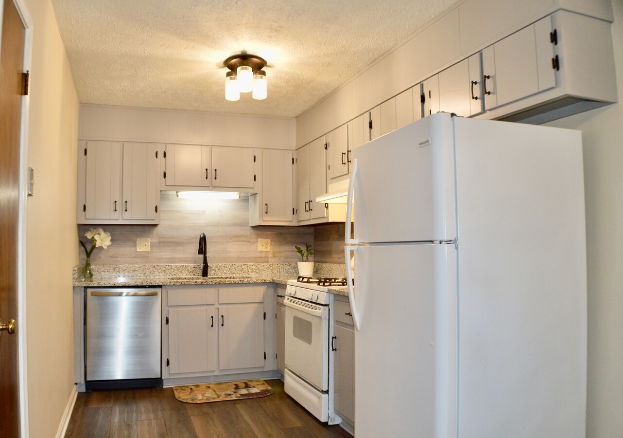
[[[169,309],[169,372],[217,369],[217,308]]]

